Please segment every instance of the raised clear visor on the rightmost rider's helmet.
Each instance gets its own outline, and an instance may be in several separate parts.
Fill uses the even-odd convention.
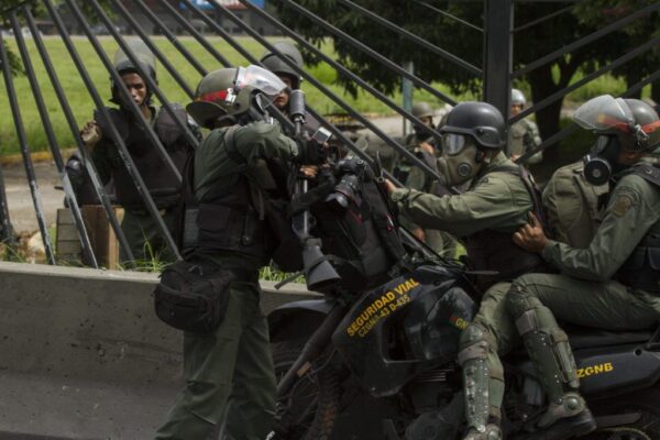
[[[617,130],[625,133],[630,131],[635,121],[628,105],[623,99],[615,99],[609,95],[590,99],[580,106],[573,113],[573,120],[586,130]]]

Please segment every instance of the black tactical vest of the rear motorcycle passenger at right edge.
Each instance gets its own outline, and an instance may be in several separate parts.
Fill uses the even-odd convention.
[[[629,170],[660,189],[660,168],[637,164]],[[660,237],[647,234],[615,275],[615,279],[634,289],[660,294]]]

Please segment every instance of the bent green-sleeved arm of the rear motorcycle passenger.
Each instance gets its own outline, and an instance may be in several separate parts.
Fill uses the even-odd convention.
[[[635,179],[641,179],[631,176]],[[605,218],[586,249],[548,241],[543,258],[566,275],[605,282],[613,277],[660,215],[656,188],[641,182],[619,184],[612,195]],[[646,188],[645,188],[646,186]]]

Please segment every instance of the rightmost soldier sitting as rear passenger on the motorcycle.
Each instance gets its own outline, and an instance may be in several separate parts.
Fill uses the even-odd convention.
[[[568,439],[595,429],[556,318],[610,330],[646,329],[660,320],[660,168],[650,157],[660,145],[658,114],[637,99],[601,96],[581,106],[573,119],[597,135],[585,157],[586,180],[603,185],[612,179],[614,189],[584,249],[548,240],[537,222],[514,235],[522,249],[562,273],[524,275],[506,300],[549,400],[529,439]]]

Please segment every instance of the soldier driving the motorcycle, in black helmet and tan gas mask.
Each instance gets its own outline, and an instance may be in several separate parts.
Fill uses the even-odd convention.
[[[437,197],[414,189],[395,189],[391,198],[399,211],[422,228],[437,228],[465,241],[471,268],[497,271],[480,277],[486,294],[473,322],[460,340],[459,363],[465,387],[466,439],[501,438],[504,370],[497,353],[508,351],[516,336],[506,317],[504,297],[518,275],[540,271],[541,258],[520,252],[510,233],[525,224],[529,210],[540,211],[526,169],[503,153],[505,122],[485,102],[461,102],[440,132],[442,184],[471,180],[461,195]]]

